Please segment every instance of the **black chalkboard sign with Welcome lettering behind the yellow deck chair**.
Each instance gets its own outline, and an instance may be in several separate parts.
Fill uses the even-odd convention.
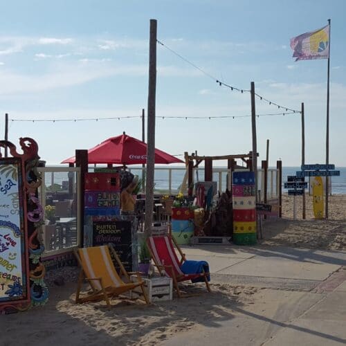
[[[113,244],[127,271],[132,271],[131,221],[93,221],[93,246]]]

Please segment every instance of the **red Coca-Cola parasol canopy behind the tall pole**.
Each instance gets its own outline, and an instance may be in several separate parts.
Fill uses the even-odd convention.
[[[88,150],[89,163],[114,163],[120,165],[136,165],[147,163],[147,144],[134,137],[111,137]],[[75,163],[75,156],[66,158],[62,163]],[[155,163],[183,163],[179,158],[155,149]]]

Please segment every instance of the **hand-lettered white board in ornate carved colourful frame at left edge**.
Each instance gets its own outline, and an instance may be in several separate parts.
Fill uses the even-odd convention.
[[[13,143],[0,140],[0,147],[11,155],[2,158],[0,152],[0,314],[48,300],[39,237],[44,210],[37,199],[38,145],[28,137],[20,138],[19,144],[22,154]]]

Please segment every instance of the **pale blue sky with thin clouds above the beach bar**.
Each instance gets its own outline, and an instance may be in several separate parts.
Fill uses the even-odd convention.
[[[157,148],[201,156],[251,151],[250,93],[216,80],[244,90],[255,82],[276,104],[300,110],[304,102],[305,163],[325,163],[327,60],[295,62],[289,40],[330,18],[329,163],[346,166],[344,0],[0,2],[1,137],[8,113],[8,140],[34,138],[50,165],[122,131],[142,138],[150,19],[165,44],[157,45]],[[255,107],[257,115],[282,113],[259,98]],[[206,119],[185,119],[194,116]],[[64,119],[83,121],[37,121]],[[256,126],[260,161],[269,139],[269,165],[300,165],[300,113],[259,116]]]

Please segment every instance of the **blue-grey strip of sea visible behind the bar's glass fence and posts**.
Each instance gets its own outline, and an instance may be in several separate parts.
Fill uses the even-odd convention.
[[[61,167],[61,166],[60,166]],[[53,168],[53,167],[50,167]],[[269,167],[269,170],[275,167]],[[170,169],[171,170],[171,192],[172,194],[179,191],[181,183],[185,175],[185,169],[181,169],[179,166],[167,165],[160,166],[155,169],[154,173],[154,191],[157,193],[168,192],[169,181],[170,181]],[[213,167],[216,172],[213,172],[213,181],[217,181],[218,189],[219,182],[221,181],[221,190],[226,190],[226,183],[228,179],[226,167]],[[136,174],[141,178],[142,170],[141,167],[129,167],[129,170],[133,174]],[[331,194],[346,194],[346,167],[336,167],[336,170],[340,171],[340,176],[331,176]],[[287,176],[295,175],[297,171],[300,171],[300,167],[282,167],[282,191],[284,189],[284,183],[287,181]],[[204,170],[203,167],[199,168],[198,172],[194,172],[194,181],[203,181]],[[68,181],[67,172],[54,172],[54,174],[46,173],[46,186],[51,183],[57,183],[63,185],[63,181]],[[268,185],[270,185],[271,177],[268,176]],[[273,179],[273,188],[275,188],[275,179]],[[308,181],[308,178],[306,179]],[[260,188],[260,186],[259,186]]]

